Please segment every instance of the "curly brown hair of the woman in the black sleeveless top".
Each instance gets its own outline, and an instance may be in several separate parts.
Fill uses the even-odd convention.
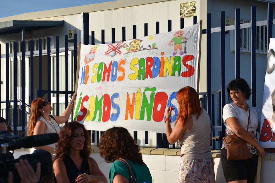
[[[77,121],[72,121],[64,125],[59,132],[59,141],[56,142],[56,145],[55,145],[56,156],[54,157],[54,160],[58,158],[65,159],[66,157],[69,156],[71,151],[71,139],[73,137],[74,131],[78,127],[81,127],[83,129],[84,137],[85,137],[84,147],[80,151],[80,156],[84,159],[87,159],[90,156],[92,148],[91,148],[91,137],[89,135],[89,132],[86,130],[83,124]]]

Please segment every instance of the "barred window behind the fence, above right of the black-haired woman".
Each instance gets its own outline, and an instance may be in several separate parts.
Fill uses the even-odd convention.
[[[250,23],[240,20],[240,23]],[[251,27],[240,29],[240,52],[251,52]],[[235,30],[230,32],[230,51],[235,51]],[[267,25],[256,27],[256,53],[267,54]]]

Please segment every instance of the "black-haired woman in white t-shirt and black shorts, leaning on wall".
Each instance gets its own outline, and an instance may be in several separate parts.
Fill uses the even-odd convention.
[[[245,140],[252,154],[246,160],[227,160],[225,143],[221,149],[221,163],[226,182],[254,183],[257,173],[258,156],[264,156],[264,149],[257,142],[257,131],[261,112],[256,107],[249,106],[246,100],[250,98],[251,89],[248,83],[240,78],[234,79],[227,85],[228,101],[223,110],[225,135],[236,134]],[[248,126],[248,131],[247,130]]]

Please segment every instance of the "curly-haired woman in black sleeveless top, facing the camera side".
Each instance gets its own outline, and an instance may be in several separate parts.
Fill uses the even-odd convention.
[[[63,126],[59,132],[59,141],[56,142],[53,163],[56,182],[107,181],[97,162],[90,157],[90,146],[91,138],[83,124],[73,121]]]

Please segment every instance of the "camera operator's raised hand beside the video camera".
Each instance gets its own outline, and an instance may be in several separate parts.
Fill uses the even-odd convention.
[[[30,163],[25,159],[20,159],[19,163],[15,163],[15,168],[21,178],[21,182],[23,183],[35,183],[39,181],[40,172],[41,172],[41,163],[37,163],[36,172],[31,167]],[[13,173],[11,171],[8,172],[8,183],[13,183]]]

